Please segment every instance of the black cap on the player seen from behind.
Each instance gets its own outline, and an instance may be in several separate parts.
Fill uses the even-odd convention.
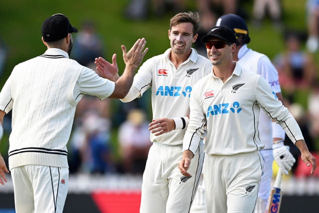
[[[54,14],[42,23],[42,37],[46,42],[60,40],[71,32],[78,32],[78,29],[73,27],[68,17],[62,13]]]

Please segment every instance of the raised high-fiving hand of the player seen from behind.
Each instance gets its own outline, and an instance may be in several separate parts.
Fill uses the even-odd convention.
[[[149,48],[145,48],[145,45],[145,38],[139,38],[128,52],[126,52],[126,47],[122,45],[124,63],[137,68],[141,64],[145,54],[149,51]]]

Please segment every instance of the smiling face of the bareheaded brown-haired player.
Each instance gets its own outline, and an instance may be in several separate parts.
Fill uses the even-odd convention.
[[[168,38],[172,52],[176,54],[189,54],[191,45],[196,41],[198,34],[193,35],[193,24],[183,22],[172,26],[168,30]]]

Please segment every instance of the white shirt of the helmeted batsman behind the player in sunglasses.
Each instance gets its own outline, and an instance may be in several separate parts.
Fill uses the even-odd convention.
[[[275,93],[281,92],[278,72],[266,55],[248,48],[245,44],[239,49],[238,58],[238,63],[242,67],[263,76]],[[272,149],[272,120],[264,111],[261,111],[259,115],[258,130],[260,140],[265,144],[264,149]]]

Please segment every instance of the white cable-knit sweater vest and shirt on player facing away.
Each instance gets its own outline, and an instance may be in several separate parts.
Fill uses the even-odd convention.
[[[66,144],[77,103],[84,94],[107,98],[114,88],[57,48],[16,65],[0,92],[0,110],[12,109],[9,168],[68,167]]]

